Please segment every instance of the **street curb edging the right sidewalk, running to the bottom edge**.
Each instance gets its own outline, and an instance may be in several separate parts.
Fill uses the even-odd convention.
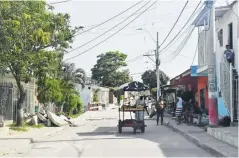
[[[173,125],[171,125],[169,122],[166,123],[164,122],[164,125],[168,128],[173,129],[175,132],[181,134],[182,136],[184,136],[186,139],[188,139],[190,142],[194,143],[195,145],[197,145],[198,147],[202,148],[203,150],[211,153],[212,155],[216,156],[216,157],[228,157],[227,155],[221,153],[220,151],[217,151],[215,149],[213,149],[212,147],[208,146],[207,144],[201,142],[200,140],[194,138],[192,135],[187,134],[177,128],[175,128]]]

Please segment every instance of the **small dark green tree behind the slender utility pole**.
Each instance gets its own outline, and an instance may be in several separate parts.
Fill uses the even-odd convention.
[[[169,81],[169,77],[161,70],[159,71],[159,75],[161,85],[166,85]],[[142,74],[141,79],[144,84],[149,85],[150,89],[157,87],[157,76],[155,70],[145,71]]]

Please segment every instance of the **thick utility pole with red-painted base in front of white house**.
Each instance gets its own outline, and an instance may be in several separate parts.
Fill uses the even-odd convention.
[[[216,86],[216,63],[215,63],[215,53],[216,53],[216,40],[215,40],[215,2],[213,0],[205,1],[206,5],[209,6],[211,16],[209,21],[210,29],[208,31],[210,38],[209,41],[212,42],[209,45],[208,52],[208,109],[209,109],[209,126],[218,126],[218,103],[217,103],[217,86]]]

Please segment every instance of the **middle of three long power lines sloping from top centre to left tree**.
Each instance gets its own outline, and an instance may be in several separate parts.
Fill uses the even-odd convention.
[[[149,2],[150,2],[150,1],[149,1]],[[128,20],[129,18],[131,18],[132,16],[134,16],[135,13],[137,13],[138,11],[140,11],[140,10],[141,10],[143,7],[145,7],[149,2],[147,2],[146,4],[144,4],[144,5],[143,5],[142,7],[140,7],[138,10],[136,10],[133,14],[131,14],[131,15],[128,16],[126,19],[124,19],[123,21],[119,22],[118,24],[116,24],[115,26],[113,26],[112,28],[110,28],[109,30],[105,31],[104,33],[100,34],[99,36],[95,37],[94,39],[92,39],[92,40],[90,40],[90,41],[88,41],[88,42],[82,44],[81,46],[76,47],[76,48],[74,48],[74,49],[68,51],[68,53],[73,52],[73,51],[75,51],[75,50],[77,50],[77,49],[82,48],[83,46],[85,46],[85,45],[87,45],[87,44],[89,44],[89,43],[95,41],[96,39],[98,39],[98,38],[100,38],[101,36],[105,35],[106,33],[110,32],[110,31],[113,30],[114,28],[118,27],[120,24],[124,23],[126,20]]]

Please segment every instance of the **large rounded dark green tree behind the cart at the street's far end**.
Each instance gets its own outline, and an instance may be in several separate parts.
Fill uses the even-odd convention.
[[[110,51],[97,56],[98,60],[92,71],[92,79],[102,86],[117,87],[131,80],[128,70],[118,71],[127,66],[127,55],[119,51]]]

